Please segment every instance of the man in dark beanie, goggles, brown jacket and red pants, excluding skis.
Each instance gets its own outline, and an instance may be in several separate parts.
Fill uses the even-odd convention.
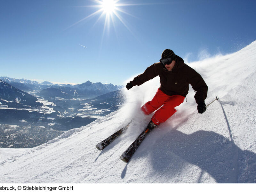
[[[204,100],[208,91],[204,79],[170,49],[165,49],[160,62],[154,63],[144,73],[134,77],[132,81],[127,83],[126,88],[129,90],[133,86],[139,86],[156,76],[160,77],[160,87],[154,98],[141,107],[146,115],[159,108],[147,126],[149,129],[154,129],[160,123],[164,123],[176,112],[175,107],[179,106],[188,94],[188,84],[191,84],[196,91],[195,100],[198,113],[204,113],[206,110]]]

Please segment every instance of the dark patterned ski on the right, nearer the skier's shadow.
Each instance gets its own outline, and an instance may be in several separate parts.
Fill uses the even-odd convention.
[[[132,155],[135,153],[137,148],[140,146],[141,142],[144,140],[146,135],[150,132],[150,129],[146,127],[139,135],[139,137],[133,141],[132,145],[130,145],[126,151],[120,156],[120,159],[123,160],[125,163],[132,158]]]

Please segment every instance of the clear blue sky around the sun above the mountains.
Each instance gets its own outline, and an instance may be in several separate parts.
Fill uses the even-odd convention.
[[[0,0],[0,76],[121,85],[164,49],[192,62],[256,40],[255,0],[119,0],[106,25],[84,19],[100,1]]]

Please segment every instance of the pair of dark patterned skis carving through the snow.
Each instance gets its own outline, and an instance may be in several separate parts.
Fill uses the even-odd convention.
[[[112,134],[111,136],[109,136],[107,139],[98,143],[96,145],[96,148],[99,150],[102,150],[105,147],[107,147],[113,140],[115,140],[119,135],[121,135],[129,127],[131,123],[132,121],[128,123],[126,126],[124,126],[123,128],[121,128],[120,130],[118,130],[117,132],[115,132],[114,134]],[[124,153],[120,156],[120,159],[123,160],[125,163],[128,163],[128,161],[132,158],[132,155],[138,149],[141,142],[144,140],[144,138],[146,137],[149,131],[150,129],[146,127],[140,133],[139,137],[136,140],[134,140],[133,143],[124,151]]]

